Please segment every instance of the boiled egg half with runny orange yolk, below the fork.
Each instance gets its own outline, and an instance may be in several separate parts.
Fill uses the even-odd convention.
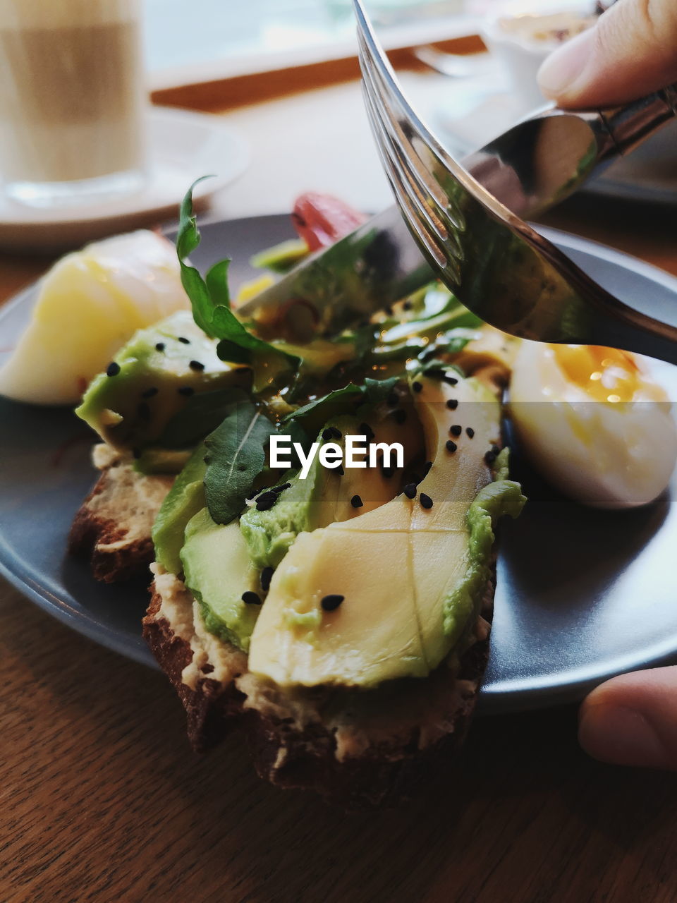
[[[522,344],[510,416],[533,466],[566,495],[625,508],[653,501],[668,485],[677,427],[650,364],[597,346]]]

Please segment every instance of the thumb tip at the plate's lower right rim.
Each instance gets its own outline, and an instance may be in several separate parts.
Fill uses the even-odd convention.
[[[677,666],[598,686],[580,707],[579,740],[595,759],[677,770]]]

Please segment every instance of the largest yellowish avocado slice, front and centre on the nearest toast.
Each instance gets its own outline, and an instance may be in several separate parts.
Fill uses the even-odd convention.
[[[524,497],[503,467],[491,484],[496,397],[477,380],[447,380],[412,382],[431,461],[419,485],[290,548],[251,638],[255,674],[280,686],[368,688],[428,675],[463,642],[487,581],[494,516],[517,514]]]

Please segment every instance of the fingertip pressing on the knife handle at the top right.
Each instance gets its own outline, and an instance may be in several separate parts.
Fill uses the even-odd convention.
[[[677,3],[618,0],[538,73],[560,107],[612,107],[677,80]]]

